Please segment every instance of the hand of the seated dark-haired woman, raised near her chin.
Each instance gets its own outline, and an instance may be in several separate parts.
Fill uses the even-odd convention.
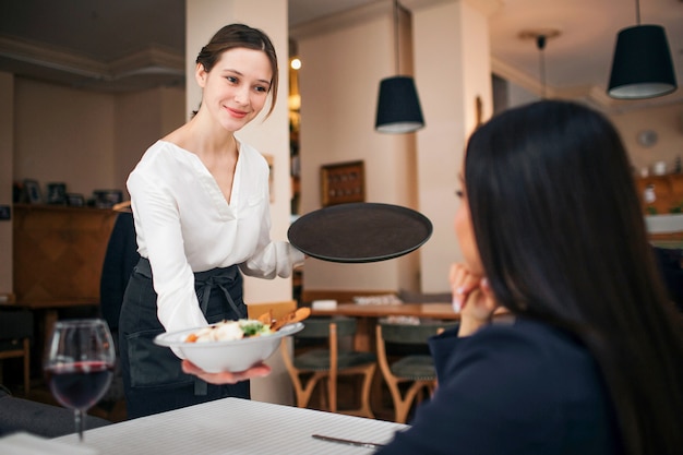
[[[469,336],[491,322],[499,304],[489,282],[472,274],[464,264],[453,264],[448,278],[453,307],[460,313],[458,336]]]

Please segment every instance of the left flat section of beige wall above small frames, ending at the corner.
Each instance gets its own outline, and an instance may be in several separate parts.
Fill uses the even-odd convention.
[[[48,182],[65,182],[86,199],[116,188],[113,95],[17,77],[14,96],[15,180],[37,180],[44,197]]]

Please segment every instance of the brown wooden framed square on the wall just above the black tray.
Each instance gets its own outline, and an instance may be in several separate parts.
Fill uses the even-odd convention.
[[[366,201],[366,169],[362,160],[321,167],[323,207]]]

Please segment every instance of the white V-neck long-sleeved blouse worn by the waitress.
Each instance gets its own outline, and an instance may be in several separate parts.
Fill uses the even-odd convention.
[[[157,141],[127,182],[137,250],[152,266],[157,315],[167,331],[206,325],[194,272],[239,264],[250,276],[288,277],[303,253],[271,241],[268,165],[240,144],[230,203],[195,154]]]

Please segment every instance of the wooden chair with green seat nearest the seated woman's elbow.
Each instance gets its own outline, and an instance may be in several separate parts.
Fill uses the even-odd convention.
[[[436,371],[429,354],[387,356],[386,343],[423,346],[429,352],[429,337],[453,326],[453,322],[428,322],[419,325],[379,323],[376,325],[378,363],[394,403],[394,421],[405,423],[411,406],[430,396],[436,385]]]

